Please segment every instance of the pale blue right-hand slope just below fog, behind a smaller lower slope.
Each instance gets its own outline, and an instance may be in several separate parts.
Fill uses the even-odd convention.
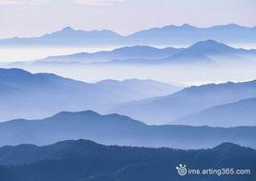
[[[209,84],[186,88],[168,96],[124,103],[111,112],[125,114],[149,124],[162,124],[171,123],[191,113],[253,97],[256,97],[256,81]],[[246,121],[239,123],[242,126],[251,125],[251,121],[248,120],[248,124]],[[229,127],[239,123],[234,122]],[[226,126],[221,122],[218,125]]]

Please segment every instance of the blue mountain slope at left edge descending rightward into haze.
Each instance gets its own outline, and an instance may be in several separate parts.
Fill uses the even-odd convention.
[[[1,121],[18,117],[44,117],[58,111],[96,109],[111,103],[96,86],[49,73],[0,70]],[[105,104],[106,104],[105,103]],[[113,105],[113,103],[112,103]]]

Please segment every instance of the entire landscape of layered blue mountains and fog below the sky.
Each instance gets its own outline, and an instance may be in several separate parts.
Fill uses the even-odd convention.
[[[184,24],[0,39],[0,180],[255,180],[255,37]],[[250,172],[182,176],[193,168]]]

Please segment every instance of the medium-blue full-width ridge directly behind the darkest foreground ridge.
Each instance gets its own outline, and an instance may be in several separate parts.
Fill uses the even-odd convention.
[[[232,142],[256,148],[256,127],[211,128],[178,125],[148,126],[127,116],[94,111],[60,112],[41,120],[0,123],[0,145],[46,145],[70,139],[90,139],[105,145],[212,148]]]

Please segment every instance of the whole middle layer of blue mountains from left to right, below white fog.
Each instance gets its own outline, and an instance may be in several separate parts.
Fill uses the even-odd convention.
[[[255,81],[181,90],[153,80],[103,80],[89,84],[19,69],[0,69],[0,80],[1,121],[93,110],[157,125],[256,126]]]

